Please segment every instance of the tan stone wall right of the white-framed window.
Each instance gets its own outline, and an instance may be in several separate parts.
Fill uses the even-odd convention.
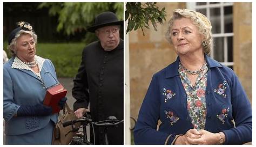
[[[233,5],[234,71],[252,104],[252,3]]]

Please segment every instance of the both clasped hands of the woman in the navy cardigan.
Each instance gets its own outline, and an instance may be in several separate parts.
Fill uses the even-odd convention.
[[[190,129],[179,136],[174,144],[218,144],[220,135],[206,130]]]

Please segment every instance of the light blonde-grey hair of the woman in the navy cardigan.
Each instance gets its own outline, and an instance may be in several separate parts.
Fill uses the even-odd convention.
[[[176,9],[168,23],[168,29],[165,38],[172,44],[172,25],[173,21],[181,18],[190,18],[194,25],[198,27],[200,34],[204,36],[202,42],[205,42],[204,53],[207,55],[212,48],[212,25],[204,14],[188,9]]]

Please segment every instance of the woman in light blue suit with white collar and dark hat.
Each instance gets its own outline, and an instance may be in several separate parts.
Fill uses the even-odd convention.
[[[47,87],[57,83],[52,62],[36,55],[37,35],[19,22],[9,36],[13,54],[3,67],[5,144],[51,144],[58,115],[43,105]],[[59,105],[63,106],[66,98]]]

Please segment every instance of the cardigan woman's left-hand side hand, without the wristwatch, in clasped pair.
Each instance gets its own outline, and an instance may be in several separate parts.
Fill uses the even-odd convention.
[[[197,129],[190,129],[186,132],[185,135],[179,136],[174,144],[197,144],[195,139],[200,139],[201,134]],[[197,141],[197,140],[196,140]]]

